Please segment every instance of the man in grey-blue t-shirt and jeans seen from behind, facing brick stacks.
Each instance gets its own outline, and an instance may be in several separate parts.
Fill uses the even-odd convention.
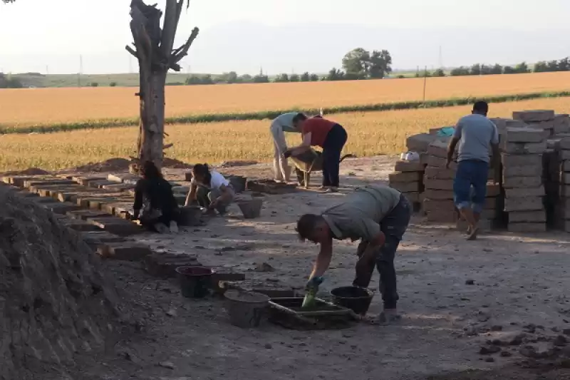
[[[449,168],[459,143],[453,195],[455,206],[469,225],[467,240],[477,239],[477,224],[485,202],[491,154],[494,160],[499,158],[499,134],[497,127],[487,118],[488,112],[487,102],[475,103],[472,114],[457,122],[447,148],[446,168]],[[493,167],[496,168],[496,165]]]

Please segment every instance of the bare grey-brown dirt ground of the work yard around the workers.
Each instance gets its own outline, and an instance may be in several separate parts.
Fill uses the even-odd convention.
[[[257,220],[242,220],[232,205],[227,217],[207,226],[140,240],[198,255],[204,265],[231,267],[248,278],[303,287],[318,249],[297,240],[296,219],[341,201],[356,185],[387,180],[392,169],[388,157],[346,160],[341,193],[268,195]],[[261,164],[222,171],[271,175],[269,165]],[[182,173],[167,170],[169,178]],[[356,244],[335,242],[321,287],[325,294],[351,284]],[[569,236],[554,232],[524,237],[499,232],[467,242],[452,227],[426,225],[417,216],[395,260],[403,320],[388,327],[361,323],[311,332],[269,323],[233,327],[221,299],[185,299],[175,281],[150,277],[140,263],[108,261],[106,272],[123,289],[124,302],[135,303],[141,332],[117,337],[106,354],[81,357],[68,374],[93,380],[569,379],[563,369],[524,369],[527,358],[517,345],[502,347],[509,357],[480,354],[489,339],[507,342],[526,332],[524,342],[544,345],[570,328],[569,247]],[[263,262],[275,271],[254,271]],[[378,274],[371,287],[378,287]],[[380,309],[376,294],[370,312]]]

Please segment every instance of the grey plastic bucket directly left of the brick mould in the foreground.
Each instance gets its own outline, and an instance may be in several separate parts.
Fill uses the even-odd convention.
[[[259,326],[269,306],[269,297],[265,294],[239,290],[229,290],[224,296],[227,299],[229,323],[246,329]]]

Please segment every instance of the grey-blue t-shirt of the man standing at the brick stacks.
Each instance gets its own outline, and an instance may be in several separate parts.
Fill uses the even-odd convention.
[[[499,143],[497,126],[484,115],[467,115],[457,122],[454,138],[460,139],[457,161],[491,161],[491,144]]]

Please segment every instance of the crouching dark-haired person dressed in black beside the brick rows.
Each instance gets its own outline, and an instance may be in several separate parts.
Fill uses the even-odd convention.
[[[180,210],[172,185],[150,161],[142,165],[140,176],[135,187],[133,220],[140,220],[143,227],[154,232],[178,232]]]

